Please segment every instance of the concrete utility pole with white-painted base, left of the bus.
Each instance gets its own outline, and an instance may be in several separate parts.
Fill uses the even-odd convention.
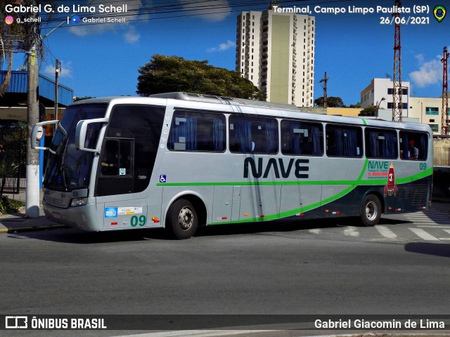
[[[35,1],[33,1],[35,4]],[[37,13],[31,13],[32,18],[37,17]],[[37,218],[39,216],[39,151],[33,150],[31,142],[36,142],[31,139],[32,128],[34,124],[39,122],[39,65],[37,55],[37,41],[39,35],[36,27],[33,25],[32,48],[27,52],[27,67],[28,67],[28,93],[27,93],[27,168],[26,180],[27,190],[25,192],[25,215],[28,218]]]

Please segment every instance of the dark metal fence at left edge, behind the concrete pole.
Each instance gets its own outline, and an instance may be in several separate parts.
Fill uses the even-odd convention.
[[[25,124],[0,124],[0,188],[4,193],[25,190],[27,162]]]

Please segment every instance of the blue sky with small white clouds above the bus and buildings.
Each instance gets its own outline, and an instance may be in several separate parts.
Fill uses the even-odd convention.
[[[265,11],[269,0],[75,0],[53,1],[56,12],[42,35],[45,59],[40,73],[54,78],[56,59],[61,62],[60,84],[72,88],[78,97],[136,95],[139,68],[154,54],[177,55],[187,60],[208,60],[210,65],[235,70],[236,16],[241,11]],[[411,84],[413,97],[442,95],[444,46],[450,46],[450,13],[438,22],[435,6],[447,1],[404,0],[411,13],[401,25],[401,79]],[[89,3],[89,4],[88,4]],[[360,93],[373,78],[393,76],[394,25],[392,1],[293,1],[281,0],[284,8],[306,8],[316,18],[314,98],[323,95],[320,79],[327,73],[328,96],[342,98],[345,105],[359,103]],[[100,13],[103,6],[127,4],[127,13]],[[79,22],[69,20],[73,5],[93,6],[95,13],[76,13]],[[428,13],[414,13],[415,6],[428,5]],[[316,13],[345,9],[346,13]],[[380,13],[377,13],[380,6]],[[444,4],[445,6],[445,4]],[[373,8],[375,13],[349,13],[349,8]],[[62,8],[62,7],[61,7]],[[108,8],[108,7],[107,7]],[[450,4],[446,5],[450,11]],[[44,9],[42,9],[44,12]],[[439,12],[440,13],[440,12]],[[83,18],[125,18],[126,22],[84,23]],[[413,25],[413,21],[424,21]],[[51,32],[51,29],[62,23]],[[14,24],[17,24],[16,22]],[[14,67],[23,65],[16,54]]]

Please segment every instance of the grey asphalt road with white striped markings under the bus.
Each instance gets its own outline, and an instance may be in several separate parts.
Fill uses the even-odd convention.
[[[0,314],[448,314],[449,216],[409,217],[2,234]]]

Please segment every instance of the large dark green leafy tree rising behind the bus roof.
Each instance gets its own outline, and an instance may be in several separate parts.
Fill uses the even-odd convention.
[[[240,77],[238,72],[213,67],[207,60],[190,61],[179,56],[155,54],[139,69],[139,74],[136,93],[141,96],[184,91],[266,100],[265,93]]]

